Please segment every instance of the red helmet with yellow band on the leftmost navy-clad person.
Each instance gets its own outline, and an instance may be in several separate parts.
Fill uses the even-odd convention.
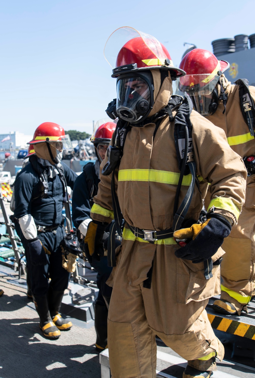
[[[36,144],[47,141],[57,141],[65,137],[65,130],[53,122],[43,122],[34,132],[33,139],[28,144]]]

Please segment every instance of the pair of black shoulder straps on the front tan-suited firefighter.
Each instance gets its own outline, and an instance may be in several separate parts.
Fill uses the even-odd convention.
[[[173,117],[172,112],[175,109],[177,109],[177,113],[175,117]],[[196,180],[196,163],[193,158],[192,123],[190,121],[191,111],[192,111],[192,101],[190,100],[189,97],[186,96],[185,98],[183,98],[182,96],[172,96],[172,98],[168,102],[167,107],[162,109],[161,112],[158,114],[158,118],[163,118],[168,114],[170,122],[175,120],[175,131],[174,131],[175,147],[176,147],[176,154],[179,161],[179,169],[181,173],[180,173],[179,182],[176,189],[176,196],[175,196],[174,222],[172,226],[173,231],[175,231],[181,226],[192,200],[194,185],[195,183],[198,184],[198,180]],[[153,121],[152,120],[151,121],[155,122],[157,119],[153,119]],[[126,138],[128,130],[130,130],[130,126],[128,125],[127,122],[124,122],[124,125],[123,125],[123,121],[121,121],[120,123],[119,122],[118,122],[119,125],[117,124],[117,127],[116,127],[115,144],[114,146],[110,146],[112,147],[112,149],[110,150],[110,153],[108,152],[108,163],[103,169],[104,171],[103,174],[109,175],[111,172],[113,172],[112,180],[111,180],[111,194],[112,194],[114,220],[115,220],[114,227],[116,227],[118,234],[122,236],[122,231],[121,231],[122,214],[121,214],[121,209],[120,209],[119,201],[116,194],[114,176],[115,176],[115,168],[119,165],[121,161],[121,157],[123,155],[125,138]],[[121,128],[122,125],[123,127]],[[113,148],[115,150],[113,150]],[[115,156],[113,160],[111,160],[111,157],[112,157],[110,155],[111,151],[115,151],[114,152]],[[189,173],[191,173],[192,175],[192,181],[187,191],[187,194],[185,195],[184,200],[182,201],[181,205],[178,208],[182,179],[184,175],[187,175]],[[198,187],[199,187],[199,184],[198,184]]]

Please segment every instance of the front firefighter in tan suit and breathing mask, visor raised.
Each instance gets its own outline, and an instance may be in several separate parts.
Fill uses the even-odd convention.
[[[119,31],[108,39],[118,51],[112,76],[117,78],[119,121],[100,165],[84,240],[87,253],[96,256],[103,250],[106,225],[114,218],[121,233],[124,217],[122,245],[116,261],[110,255],[114,268],[107,281],[113,287],[111,375],[155,377],[158,335],[188,360],[184,377],[206,378],[216,370],[215,358],[223,359],[224,347],[205,307],[219,293],[219,246],[239,216],[246,170],[224,132],[219,129],[215,136],[187,96],[172,96],[172,81],[185,72],[174,67],[167,50],[154,37],[129,29],[133,34],[127,40],[114,37]],[[107,58],[113,51],[108,42]],[[199,192],[196,175],[210,181],[219,197],[199,225],[200,192],[207,184],[200,180]],[[224,193],[227,200],[221,200]]]

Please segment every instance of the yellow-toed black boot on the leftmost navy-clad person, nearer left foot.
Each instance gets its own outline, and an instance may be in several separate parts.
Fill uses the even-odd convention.
[[[51,319],[48,308],[48,299],[46,294],[43,296],[33,296],[34,304],[40,318],[40,328],[43,335],[51,340],[56,340],[60,336],[60,331]]]

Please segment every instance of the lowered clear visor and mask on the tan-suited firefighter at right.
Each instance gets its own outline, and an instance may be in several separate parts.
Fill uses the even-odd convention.
[[[218,74],[185,75],[173,83],[173,93],[184,96],[186,92],[192,99],[194,110],[202,116],[209,116],[215,113],[218,106],[216,85],[219,79]]]

